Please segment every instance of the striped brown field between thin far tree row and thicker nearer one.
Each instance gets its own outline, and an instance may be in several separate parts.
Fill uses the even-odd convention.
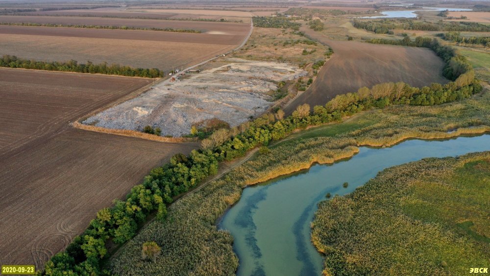
[[[204,23],[203,25],[206,25]],[[227,25],[228,23],[223,23]],[[233,25],[233,24],[232,24]],[[43,61],[119,63],[164,71],[236,48],[250,25],[234,32],[178,33],[63,27],[0,26],[1,54]],[[223,34],[224,33],[224,34]],[[228,33],[228,34],[226,34]]]

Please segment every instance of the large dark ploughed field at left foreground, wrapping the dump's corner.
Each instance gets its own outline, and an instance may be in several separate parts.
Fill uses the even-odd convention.
[[[150,82],[0,69],[1,264],[41,268],[151,168],[197,147],[69,125]]]

